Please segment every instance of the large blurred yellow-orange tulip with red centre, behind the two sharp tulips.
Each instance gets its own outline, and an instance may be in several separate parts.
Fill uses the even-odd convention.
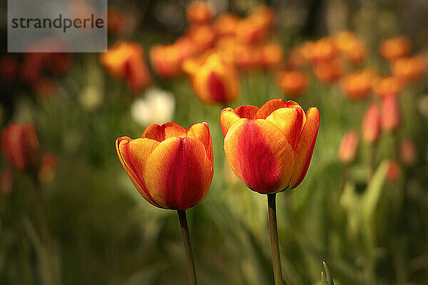
[[[208,104],[225,104],[238,98],[239,78],[235,67],[217,53],[200,66],[188,68],[189,80],[195,95]]]

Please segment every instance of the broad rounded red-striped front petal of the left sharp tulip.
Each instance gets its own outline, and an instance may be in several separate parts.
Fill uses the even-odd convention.
[[[208,194],[213,162],[197,138],[169,138],[149,155],[143,171],[148,190],[162,207],[184,210]]]

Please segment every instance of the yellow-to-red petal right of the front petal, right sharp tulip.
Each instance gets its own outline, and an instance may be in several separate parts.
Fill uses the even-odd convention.
[[[302,108],[280,108],[273,111],[266,120],[282,130],[294,150],[302,133],[304,117]]]

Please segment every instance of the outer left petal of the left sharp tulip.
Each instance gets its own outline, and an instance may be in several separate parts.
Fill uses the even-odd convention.
[[[146,183],[141,177],[143,177],[148,155],[153,152],[159,143],[157,140],[149,138],[132,140],[128,137],[122,137],[116,140],[116,152],[118,153],[119,160],[121,160],[121,164],[133,182],[133,185],[135,185],[144,199],[156,207],[161,206],[153,199],[150,192],[148,192]]]

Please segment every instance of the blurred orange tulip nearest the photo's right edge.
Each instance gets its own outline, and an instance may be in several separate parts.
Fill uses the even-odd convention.
[[[424,61],[420,56],[398,58],[392,63],[391,70],[403,82],[417,81],[424,71]]]

